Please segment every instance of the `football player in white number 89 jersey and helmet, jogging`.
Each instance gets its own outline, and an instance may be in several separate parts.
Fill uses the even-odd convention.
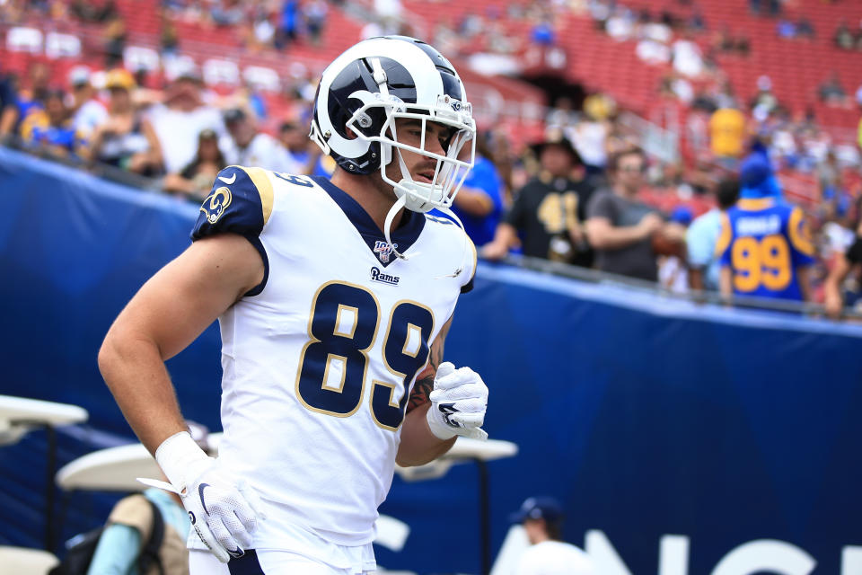
[[[374,571],[396,461],[488,437],[488,388],[441,363],[476,251],[424,213],[450,211],[475,131],[435,49],[356,44],[323,72],[314,105],[311,137],[339,165],[331,181],[225,168],[191,246],[111,326],[101,373],[189,511],[192,575]],[[164,361],[216,318],[224,438],[212,458],[184,427]]]

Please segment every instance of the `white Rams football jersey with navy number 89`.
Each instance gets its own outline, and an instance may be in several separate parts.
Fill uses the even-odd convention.
[[[254,546],[284,548],[297,527],[371,542],[410,386],[471,287],[473,244],[447,219],[406,212],[391,234],[400,260],[330,181],[261,168],[225,168],[201,212],[193,239],[243,234],[267,270],[219,318],[219,460],[267,506]]]

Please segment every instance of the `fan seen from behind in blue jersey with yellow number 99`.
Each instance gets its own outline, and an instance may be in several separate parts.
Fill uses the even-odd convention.
[[[742,199],[723,217],[717,255],[737,296],[804,299],[799,270],[814,263],[805,215],[777,197],[769,164],[743,162]]]

